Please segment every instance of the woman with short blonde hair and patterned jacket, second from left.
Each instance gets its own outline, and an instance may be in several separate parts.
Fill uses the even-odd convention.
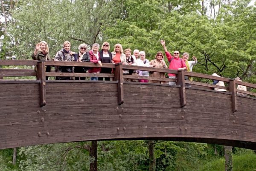
[[[77,61],[76,53],[70,50],[71,44],[68,41],[65,41],[63,44],[63,48],[59,50],[55,57],[55,61]],[[56,73],[72,73],[72,68],[70,66],[55,66]],[[56,80],[70,80],[70,77],[58,77],[56,76]]]

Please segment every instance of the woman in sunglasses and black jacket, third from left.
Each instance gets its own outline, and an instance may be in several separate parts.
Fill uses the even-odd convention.
[[[76,54],[78,62],[90,62],[90,56],[87,52],[87,45],[82,43],[78,47],[79,53]],[[75,67],[75,73],[86,73],[88,67]],[[76,77],[76,80],[85,80],[86,77]]]

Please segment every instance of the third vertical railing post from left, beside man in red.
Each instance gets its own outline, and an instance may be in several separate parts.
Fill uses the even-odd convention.
[[[184,70],[178,70],[176,75],[177,85],[180,86],[180,105],[181,107],[186,106],[186,93],[185,93],[185,76]]]

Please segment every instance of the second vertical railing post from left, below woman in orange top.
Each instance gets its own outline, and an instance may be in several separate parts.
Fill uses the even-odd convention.
[[[117,100],[118,104],[124,103],[124,87],[122,77],[122,63],[116,64],[115,81],[117,81]]]

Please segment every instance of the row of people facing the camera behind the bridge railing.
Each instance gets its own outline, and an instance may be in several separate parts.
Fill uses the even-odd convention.
[[[160,43],[163,45],[163,49],[165,51],[166,57],[169,61],[169,69],[172,70],[187,70],[192,72],[193,65],[197,64],[197,59],[195,56],[192,57],[193,61],[188,61],[189,54],[183,53],[183,58],[180,58],[179,51],[175,50],[174,55],[166,48],[165,41],[161,40]],[[76,62],[93,62],[94,64],[99,64],[102,66],[102,63],[122,63],[127,65],[137,65],[144,67],[154,67],[154,68],[167,68],[166,62],[163,60],[164,55],[161,51],[158,51],[155,55],[155,59],[149,61],[146,59],[145,51],[139,51],[135,49],[133,51],[133,55],[131,54],[131,49],[127,48],[123,50],[121,44],[116,44],[114,46],[113,52],[110,51],[110,44],[108,42],[104,42],[102,44],[101,50],[99,50],[100,45],[98,43],[94,43],[91,47],[91,50],[87,50],[86,44],[79,45],[79,52],[75,53],[70,50],[71,44],[68,41],[65,41],[63,44],[63,48],[59,50],[55,57],[55,61],[76,61]],[[35,47],[35,51],[32,55],[32,58],[35,60],[51,60],[49,57],[49,47],[47,42],[42,41],[38,43]],[[47,67],[46,71],[49,72],[50,67]],[[66,66],[55,66],[55,72],[67,73],[112,73],[113,70],[111,68],[104,67],[66,67]],[[123,70],[124,75],[138,75],[138,76],[150,76],[150,77],[161,77],[164,78],[164,73],[153,72],[149,73],[148,71],[143,70]],[[169,73],[169,78],[175,78],[175,74]],[[47,78],[48,79],[48,78]],[[56,77],[56,80],[70,79],[70,77]],[[85,77],[76,77],[77,80],[85,80]],[[105,81],[109,81],[110,78],[104,78]],[[185,79],[191,80],[192,78],[186,77]],[[90,80],[103,80],[103,77],[90,77]],[[147,79],[133,79],[131,81],[140,81],[140,82],[149,82]],[[163,83],[163,81],[150,81],[154,83]],[[170,81],[170,85],[175,85],[175,82]]]

